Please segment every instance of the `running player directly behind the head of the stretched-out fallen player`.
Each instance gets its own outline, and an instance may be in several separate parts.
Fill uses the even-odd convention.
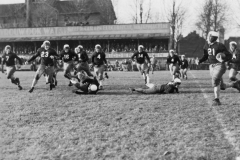
[[[180,61],[178,55],[176,55],[174,53],[174,50],[169,51],[169,56],[167,58],[167,64],[169,66],[169,70],[172,75],[172,79],[174,80],[177,77],[177,75],[180,74],[179,65],[181,65],[181,61]]]

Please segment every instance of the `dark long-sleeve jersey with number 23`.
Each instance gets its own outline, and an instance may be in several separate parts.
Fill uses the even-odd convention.
[[[45,50],[45,48],[39,48],[37,50],[37,53],[34,56],[32,56],[28,60],[28,62],[33,61],[37,57],[40,57],[41,65],[54,66],[54,61],[51,58],[51,56],[58,57],[58,54],[57,54],[57,52],[54,49],[49,48],[48,50]]]

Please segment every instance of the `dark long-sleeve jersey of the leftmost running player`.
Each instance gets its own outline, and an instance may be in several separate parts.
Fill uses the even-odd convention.
[[[19,61],[19,64],[22,65],[22,60],[15,53],[10,52],[9,54],[4,53],[2,56],[2,65],[6,64],[6,66],[14,66],[15,59]]]

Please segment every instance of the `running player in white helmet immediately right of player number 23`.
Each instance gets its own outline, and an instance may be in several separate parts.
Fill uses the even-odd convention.
[[[63,63],[63,74],[64,77],[69,79],[69,85],[72,86],[70,79],[72,78],[71,71],[75,68],[74,61],[78,60],[77,54],[70,50],[68,44],[63,46],[63,50],[60,53],[60,59],[64,62]]]

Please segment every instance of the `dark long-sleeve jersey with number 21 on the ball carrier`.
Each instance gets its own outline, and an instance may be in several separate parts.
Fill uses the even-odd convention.
[[[216,58],[218,53],[224,53],[226,55],[223,62],[227,62],[232,58],[232,54],[222,43],[219,42],[213,44],[206,43],[203,47],[203,51],[203,57],[199,60],[199,63],[205,62],[206,60],[209,60],[210,64],[221,63]]]

